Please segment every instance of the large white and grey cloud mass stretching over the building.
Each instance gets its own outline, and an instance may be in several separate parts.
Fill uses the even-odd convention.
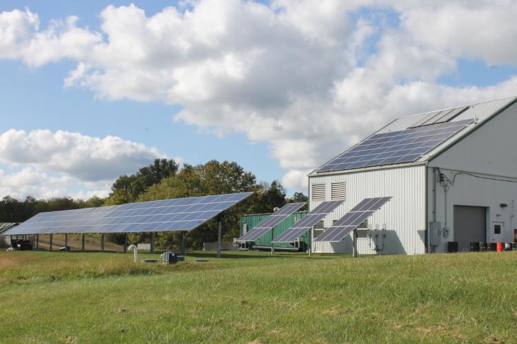
[[[65,87],[181,105],[175,120],[268,142],[285,186],[303,187],[307,171],[396,116],[514,95],[516,77],[489,87],[438,80],[458,59],[517,63],[516,1],[428,3],[201,0],[150,17],[108,6],[99,32],[76,17],[42,28],[37,14],[14,10],[0,14],[0,57],[32,67],[72,59]],[[63,154],[34,163],[81,173]]]

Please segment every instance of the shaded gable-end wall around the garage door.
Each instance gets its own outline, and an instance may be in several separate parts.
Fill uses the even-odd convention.
[[[428,173],[428,217],[433,215],[432,169],[439,167],[450,180],[458,172],[474,173],[485,178],[459,174],[454,184],[448,186],[447,211],[445,191],[436,189],[436,219],[442,228],[438,252],[446,250],[447,241],[454,241],[454,205],[487,207],[487,240],[495,241],[491,235],[493,222],[503,222],[504,241],[513,241],[514,200],[517,199],[517,105],[510,105],[505,111],[466,136],[429,162]],[[512,180],[514,182],[499,181]],[[507,204],[501,207],[500,204]],[[447,216],[445,216],[447,213]],[[445,237],[447,235],[447,237]]]

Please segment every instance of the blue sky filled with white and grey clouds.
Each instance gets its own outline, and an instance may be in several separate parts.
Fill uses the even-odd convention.
[[[155,158],[307,173],[399,116],[517,95],[516,1],[0,2],[0,197]]]

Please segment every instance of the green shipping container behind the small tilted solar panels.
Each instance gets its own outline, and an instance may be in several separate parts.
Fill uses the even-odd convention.
[[[252,230],[257,224],[259,224],[263,219],[269,217],[271,214],[248,214],[248,215],[242,215],[241,216],[241,235],[243,235],[245,232],[249,232]],[[273,237],[278,237],[278,235],[281,235],[282,233],[287,230],[287,228],[290,228],[293,224],[298,222],[302,217],[307,215],[307,211],[297,211],[296,213],[293,213],[290,215],[290,217],[287,217],[287,219],[283,220],[278,226],[273,228]],[[309,233],[305,233],[303,236],[303,244],[300,242],[302,246],[302,250],[307,250],[307,247],[309,245]],[[256,241],[250,242],[250,246],[268,246],[271,247],[271,231],[267,232],[265,235],[257,239]],[[289,243],[278,243],[274,245],[275,247],[294,247],[293,244]]]

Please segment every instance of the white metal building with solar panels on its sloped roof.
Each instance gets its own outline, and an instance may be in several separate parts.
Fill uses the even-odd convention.
[[[412,162],[385,164],[374,159],[356,168],[353,162],[361,157],[343,155],[377,134],[404,134],[411,128],[422,131],[436,123],[456,122],[465,126]],[[448,241],[457,241],[463,251],[471,241],[514,241],[517,97],[398,118],[369,138],[310,173],[311,209],[325,200],[345,200],[315,226],[313,238],[364,198],[392,196],[358,228],[359,254],[447,252]],[[312,246],[314,252],[349,253],[352,235]]]

